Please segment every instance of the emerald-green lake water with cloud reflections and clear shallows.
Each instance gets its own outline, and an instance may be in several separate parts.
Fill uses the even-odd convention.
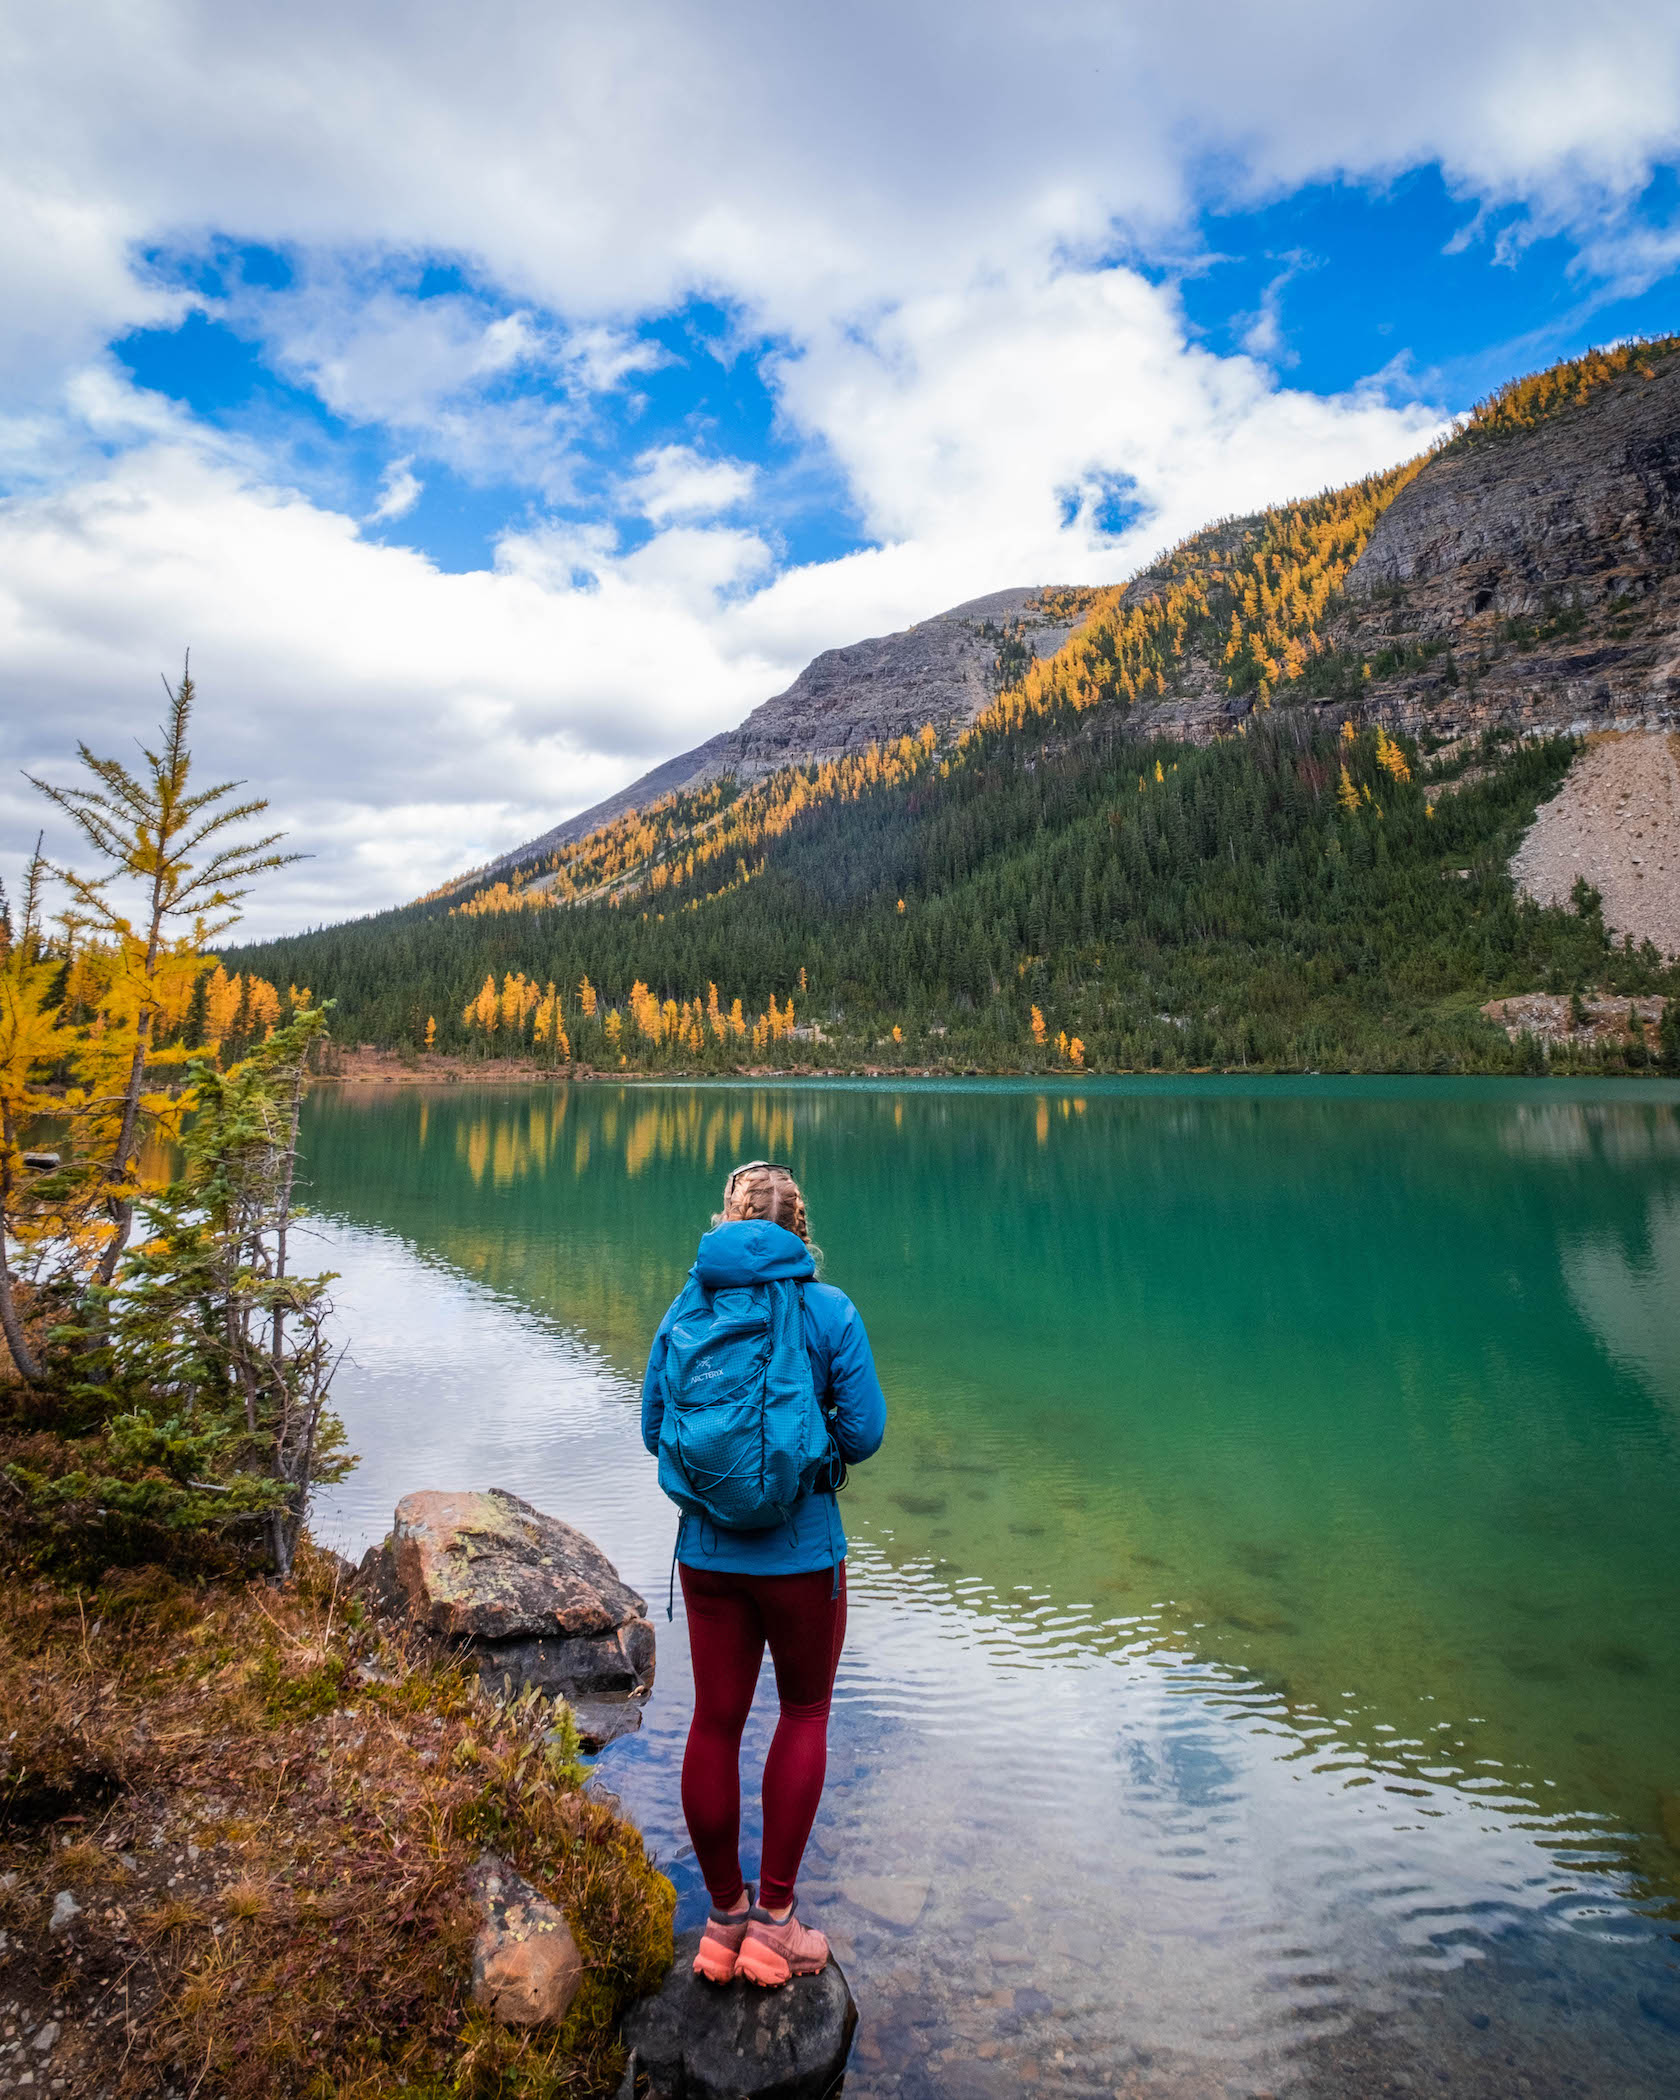
[[[892,1407],[804,1884],[848,2092],[1680,2090],[1680,1090],[344,1088],[307,1142],[319,1529],[601,1539],[685,1915],[636,1384],[727,1166],[806,1180]]]

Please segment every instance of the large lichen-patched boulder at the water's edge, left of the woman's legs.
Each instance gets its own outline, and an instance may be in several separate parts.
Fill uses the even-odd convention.
[[[565,1699],[588,1747],[640,1720],[647,1604],[594,1539],[504,1487],[403,1495],[355,1590],[382,1617],[458,1642],[485,1684]]]

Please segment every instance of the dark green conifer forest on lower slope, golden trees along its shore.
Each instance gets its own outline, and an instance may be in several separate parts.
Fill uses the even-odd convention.
[[[428,903],[227,966],[307,981],[351,1042],[422,1050],[430,1025],[437,1048],[607,1067],[1533,1069],[1480,1016],[1495,993],[1680,989],[1590,892],[1512,888],[1573,752],[1487,739],[1430,769],[1281,708],[1201,748],[989,729],[943,779],[821,804],[754,880],[664,914]]]

